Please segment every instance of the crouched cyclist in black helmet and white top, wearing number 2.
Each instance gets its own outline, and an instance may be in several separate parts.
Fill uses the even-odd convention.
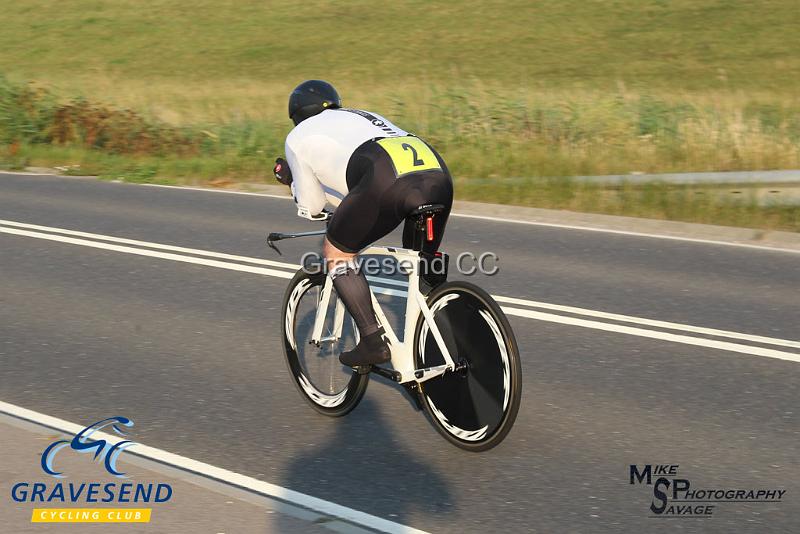
[[[361,339],[339,356],[357,367],[386,363],[389,347],[372,309],[369,286],[355,257],[424,204],[442,204],[433,221],[434,253],[453,203],[453,182],[442,158],[420,138],[384,117],[342,107],[336,89],[307,80],[289,97],[294,129],[286,137],[286,160],[275,162],[275,177],[291,186],[297,214],[324,218],[326,203],[337,206],[323,244],[328,276],[358,327]],[[288,161],[287,161],[288,160]],[[413,225],[403,230],[410,247]]]

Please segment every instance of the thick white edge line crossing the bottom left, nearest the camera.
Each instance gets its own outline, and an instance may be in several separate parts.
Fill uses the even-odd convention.
[[[3,401],[0,401],[0,412],[23,419],[25,421],[53,428],[67,434],[77,434],[84,428],[81,425],[77,425],[63,419],[58,419],[56,417],[35,412],[33,410],[28,410],[27,408]],[[93,440],[105,439],[111,444],[116,444],[119,441],[126,439],[125,437],[107,434],[105,432],[95,432],[92,437]],[[196,473],[220,482],[245,488],[255,493],[260,493],[261,495],[266,495],[268,497],[296,504],[328,516],[337,517],[350,523],[355,523],[357,525],[379,530],[381,532],[398,534],[426,534],[423,530],[401,525],[400,523],[395,523],[394,521],[389,521],[388,519],[382,519],[366,512],[360,512],[340,504],[326,501],[318,497],[312,497],[311,495],[306,495],[305,493],[284,488],[283,486],[278,486],[277,484],[272,484],[270,482],[258,480],[234,471],[229,471],[228,469],[216,467],[204,462],[199,462],[197,460],[192,460],[191,458],[186,458],[185,456],[174,454],[156,447],[150,447],[148,445],[136,443],[129,449],[126,449],[125,453],[147,458],[149,460],[155,460],[184,471],[189,471],[191,473]]]

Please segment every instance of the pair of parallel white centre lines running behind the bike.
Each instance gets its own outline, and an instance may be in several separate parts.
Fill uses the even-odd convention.
[[[11,221],[11,222],[13,222],[13,221]],[[25,224],[26,226],[33,226],[33,225],[28,225],[27,223],[16,223],[16,222],[14,222],[14,224],[16,224],[17,226],[20,226],[20,225],[23,225],[23,224]],[[37,228],[46,229],[46,230],[51,231],[51,232],[58,231],[61,234],[65,234],[65,233],[78,234],[78,233],[80,233],[80,232],[75,232],[73,230],[50,228],[50,227],[46,227],[46,226],[37,226]],[[111,243],[103,243],[103,242],[100,242],[100,241],[92,241],[92,240],[88,240],[88,239],[78,239],[78,238],[68,237],[66,235],[57,235],[55,233],[43,233],[43,232],[34,232],[34,231],[31,231],[31,230],[23,230],[21,228],[10,228],[8,226],[0,226],[0,233],[7,233],[7,234],[12,234],[12,235],[21,235],[21,236],[26,236],[26,237],[34,237],[34,238],[37,238],[37,239],[46,239],[46,240],[50,240],[50,241],[57,241],[57,242],[68,243],[68,244],[72,244],[72,245],[81,245],[81,246],[87,246],[87,247],[98,248],[98,249],[112,250],[112,251],[115,251],[115,252],[123,252],[123,253],[127,253],[127,254],[137,254],[137,255],[141,255],[141,256],[149,256],[149,257],[154,257],[154,258],[167,259],[167,260],[172,260],[172,261],[179,261],[179,262],[185,262],[185,263],[194,263],[194,264],[198,264],[198,265],[216,267],[216,268],[219,268],[219,269],[229,269],[229,270],[234,270],[234,271],[249,272],[249,273],[253,273],[253,274],[261,274],[261,275],[266,275],[266,276],[276,276],[278,278],[292,278],[292,276],[293,276],[293,272],[291,272],[291,271],[278,271],[278,270],[275,270],[275,269],[268,269],[268,268],[264,268],[264,267],[255,267],[255,266],[252,266],[252,265],[244,265],[244,264],[240,264],[240,263],[233,263],[233,262],[227,262],[227,261],[218,261],[218,260],[210,260],[210,259],[205,259],[205,258],[197,258],[197,257],[194,257],[194,256],[184,256],[184,255],[180,255],[180,254],[159,252],[157,250],[147,250],[147,249],[143,249],[143,248],[134,248],[134,247],[128,247],[128,246],[122,246],[122,245],[114,245],[114,244],[111,244]],[[86,233],[82,233],[82,234],[83,235],[87,235],[87,236],[98,236],[98,234],[86,234]],[[100,237],[102,237],[106,241],[114,241],[114,240],[120,239],[120,238],[114,238],[114,237],[111,237],[111,236],[100,236]],[[158,248],[158,247],[162,246],[162,245],[159,245],[158,243],[148,243],[148,242],[145,242],[145,241],[140,241],[140,242],[137,242],[135,240],[125,240],[125,241],[129,242],[131,244],[132,243],[145,243],[150,248]],[[164,247],[171,247],[170,245],[163,245],[163,246]],[[181,247],[171,247],[170,250],[174,250],[175,248],[181,248]],[[184,250],[195,251],[197,249],[184,249]],[[207,254],[217,254],[217,253],[211,253],[211,252],[208,252],[208,251],[199,251],[199,252],[204,252],[204,253],[207,253]],[[232,257],[244,258],[246,261],[248,261],[250,263],[255,263],[255,261],[258,260],[258,258],[247,258],[247,257],[244,257],[244,256],[232,256]],[[268,261],[268,260],[263,260],[263,261]],[[294,266],[292,264],[289,264],[289,263],[282,264],[281,262],[272,262],[272,264],[280,266],[282,268],[294,268]],[[383,282],[393,283],[394,285],[403,285],[401,282],[398,282],[398,281],[386,281],[385,279],[373,279],[373,281],[378,281],[378,282],[382,282],[382,283]],[[407,295],[406,291],[403,291],[403,290],[400,290],[400,289],[390,289],[390,288],[386,288],[386,287],[375,287],[374,291],[375,291],[375,293],[378,293],[378,294],[391,295],[391,296],[406,296]],[[524,305],[524,306],[530,306],[530,307],[539,307],[539,308],[551,309],[551,310],[555,310],[555,311],[564,311],[564,312],[567,312],[567,313],[582,314],[582,315],[594,316],[594,317],[598,317],[598,318],[611,319],[611,320],[622,321],[622,322],[630,322],[630,323],[637,323],[637,324],[643,324],[643,325],[648,325],[648,326],[669,328],[669,329],[672,329],[672,330],[683,330],[683,331],[687,331],[687,332],[694,332],[694,333],[701,333],[701,334],[706,334],[706,335],[713,335],[713,336],[717,336],[717,337],[730,337],[730,338],[741,339],[741,340],[745,340],[745,341],[753,341],[753,342],[757,342],[757,343],[767,343],[767,344],[773,344],[773,345],[782,345],[782,346],[786,346],[786,347],[798,347],[798,346],[800,346],[800,342],[791,341],[791,340],[785,340],[785,339],[769,338],[769,337],[764,337],[764,336],[754,336],[754,335],[743,334],[743,333],[739,333],[739,332],[729,332],[729,331],[726,331],[726,330],[716,330],[716,329],[712,329],[712,328],[704,328],[704,327],[697,327],[697,326],[691,326],[691,325],[682,325],[682,324],[679,324],[679,323],[669,323],[669,322],[666,322],[666,321],[657,321],[657,320],[653,320],[653,319],[645,319],[645,318],[640,318],[640,317],[631,317],[631,316],[627,316],[627,315],[619,315],[619,314],[613,314],[613,313],[607,313],[607,312],[601,312],[601,311],[595,311],[595,310],[587,310],[587,309],[584,309],[584,308],[575,308],[575,307],[572,307],[572,306],[562,306],[562,305],[559,305],[559,304],[549,304],[549,303],[546,303],[546,302],[536,302],[536,301],[530,301],[530,300],[524,300],[524,299],[516,299],[516,298],[512,298],[512,297],[504,297],[502,295],[493,295],[493,297],[498,302],[506,302],[506,303],[509,303],[509,304],[517,304],[517,305]],[[650,337],[650,338],[653,338],[653,339],[660,339],[660,340],[671,341],[671,342],[675,342],[675,343],[684,343],[684,344],[688,344],[688,345],[696,345],[696,346],[709,347],[709,348],[714,348],[714,349],[719,349],[719,350],[728,350],[728,351],[732,351],[732,352],[739,352],[739,353],[744,353],[744,354],[752,354],[752,355],[755,355],[755,356],[764,356],[764,357],[768,357],[768,358],[777,358],[777,359],[781,359],[781,360],[800,362],[800,354],[795,354],[795,353],[791,353],[791,352],[784,352],[784,351],[778,351],[778,350],[773,350],[773,349],[766,349],[766,348],[762,348],[762,347],[754,347],[754,346],[751,346],[751,345],[743,345],[743,344],[738,344],[738,343],[730,343],[730,342],[726,342],[726,341],[717,341],[717,340],[704,339],[704,338],[695,338],[695,337],[691,337],[691,336],[671,334],[671,333],[661,332],[661,331],[657,331],[657,330],[648,330],[648,329],[644,329],[644,328],[634,328],[634,327],[629,327],[629,326],[605,323],[605,322],[601,322],[601,321],[591,321],[591,320],[586,320],[586,319],[567,317],[567,316],[563,316],[563,315],[556,315],[556,314],[538,312],[538,311],[533,311],[533,310],[512,308],[512,307],[509,307],[509,306],[503,307],[503,309],[509,315],[516,315],[516,316],[519,316],[519,317],[526,317],[526,318],[529,318],[529,319],[537,319],[537,320],[541,320],[541,321],[557,322],[557,323],[568,324],[568,325],[573,325],[573,326],[581,326],[581,327],[585,327],[585,328],[594,328],[594,329],[597,329],[597,330],[604,330],[604,331],[608,331],[608,332],[616,332],[616,333],[635,335],[635,336],[641,336],[641,337]]]

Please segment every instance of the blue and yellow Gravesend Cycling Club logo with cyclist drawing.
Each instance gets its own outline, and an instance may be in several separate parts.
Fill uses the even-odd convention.
[[[117,467],[120,454],[136,445],[124,439],[133,421],[115,416],[93,423],[72,439],[60,439],[41,454],[40,467],[58,482],[17,482],[11,498],[17,503],[70,504],[72,508],[34,508],[32,522],[48,523],[147,523],[151,508],[91,508],[92,504],[165,503],[172,498],[172,486],[166,483],[133,482],[63,482],[67,474],[58,465],[68,453],[91,454],[105,471],[117,478],[128,478]]]

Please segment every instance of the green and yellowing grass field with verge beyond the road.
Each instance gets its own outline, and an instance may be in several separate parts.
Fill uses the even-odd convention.
[[[269,179],[289,91],[324,78],[346,105],[430,140],[462,198],[797,229],[793,210],[755,220],[753,206],[674,195],[665,209],[634,190],[609,203],[538,177],[800,167],[799,12],[795,0],[0,0],[0,166]],[[137,112],[127,129],[124,109]],[[528,189],[504,182],[515,177]]]

